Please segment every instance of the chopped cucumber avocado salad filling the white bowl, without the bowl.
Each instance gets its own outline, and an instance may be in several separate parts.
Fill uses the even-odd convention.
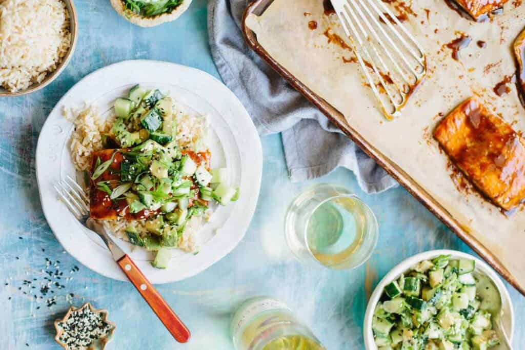
[[[475,261],[439,256],[386,285],[372,321],[380,350],[486,350],[500,342]]]

